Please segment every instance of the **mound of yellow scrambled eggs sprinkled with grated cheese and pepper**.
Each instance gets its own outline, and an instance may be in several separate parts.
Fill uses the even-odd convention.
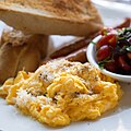
[[[103,81],[90,63],[55,60],[35,73],[19,72],[5,81],[0,95],[8,104],[51,127],[71,121],[96,119],[117,106],[121,97],[119,84]]]

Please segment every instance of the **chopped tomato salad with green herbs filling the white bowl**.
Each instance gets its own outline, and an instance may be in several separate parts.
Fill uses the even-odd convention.
[[[131,27],[104,29],[96,43],[96,59],[108,71],[131,75]]]

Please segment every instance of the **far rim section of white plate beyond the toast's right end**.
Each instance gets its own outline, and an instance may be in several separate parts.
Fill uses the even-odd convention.
[[[92,0],[98,8],[106,25],[116,25],[121,19],[131,17],[131,4]]]

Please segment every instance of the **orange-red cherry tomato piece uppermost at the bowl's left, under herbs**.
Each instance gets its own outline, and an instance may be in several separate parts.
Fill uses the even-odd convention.
[[[117,43],[117,36],[116,34],[107,34],[105,36],[102,36],[102,38],[96,44],[96,49],[99,49],[104,45],[109,45],[111,47],[116,47]]]

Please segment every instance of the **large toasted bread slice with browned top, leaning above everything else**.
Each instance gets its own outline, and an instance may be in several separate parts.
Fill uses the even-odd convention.
[[[91,0],[0,0],[0,19],[33,34],[87,36],[103,22]]]

